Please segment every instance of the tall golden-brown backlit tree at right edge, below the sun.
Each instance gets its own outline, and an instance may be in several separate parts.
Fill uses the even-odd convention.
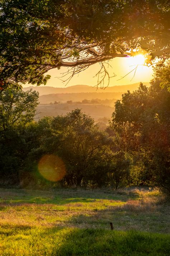
[[[133,155],[140,170],[143,165],[140,180],[143,176],[143,183],[158,186],[166,193],[170,193],[170,95],[167,86],[160,87],[160,74],[164,77],[168,68],[159,67],[149,88],[140,84],[133,93],[123,94],[122,100],[115,103],[112,116],[112,127],[122,139],[122,148]]]

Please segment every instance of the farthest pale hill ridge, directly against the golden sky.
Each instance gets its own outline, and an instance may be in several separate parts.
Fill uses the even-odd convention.
[[[60,93],[124,93],[127,90],[133,91],[138,88],[140,83],[136,84],[129,84],[129,85],[120,85],[120,86],[109,86],[105,88],[105,90],[101,90],[100,88],[96,90],[96,87],[88,86],[88,85],[73,85],[64,88],[57,88],[57,87],[50,87],[50,86],[29,86],[23,88],[24,91],[29,89],[33,89],[39,92],[39,95],[46,95],[46,94],[60,94]],[[143,84],[149,86],[148,82],[144,82]]]

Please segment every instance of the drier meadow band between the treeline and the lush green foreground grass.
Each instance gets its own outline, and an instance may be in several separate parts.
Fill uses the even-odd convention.
[[[113,222],[115,230],[168,233],[170,206],[162,202],[159,192],[139,189],[0,189],[0,225],[110,229]]]

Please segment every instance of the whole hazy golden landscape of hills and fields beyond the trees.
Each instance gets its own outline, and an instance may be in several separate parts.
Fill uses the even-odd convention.
[[[149,86],[148,82],[145,84]],[[105,90],[96,90],[95,87],[88,85],[75,85],[65,88],[29,86],[23,88],[23,91],[33,89],[39,92],[40,104],[37,107],[38,114],[35,120],[44,116],[65,115],[76,108],[80,108],[82,112],[90,114],[97,122],[102,117],[109,120],[112,117],[116,100],[121,99],[122,93],[127,90],[133,91],[138,86],[139,83],[109,86]],[[89,102],[82,102],[85,99]],[[72,103],[68,104],[69,101],[72,101]],[[56,104],[54,104],[55,102]]]

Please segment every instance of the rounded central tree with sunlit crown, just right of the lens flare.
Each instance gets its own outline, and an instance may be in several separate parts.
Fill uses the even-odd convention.
[[[94,120],[81,113],[80,109],[75,109],[65,117],[54,118],[53,125],[58,131],[60,127],[62,129],[55,150],[66,163],[67,184],[80,186],[83,180],[84,184],[88,184],[89,174],[93,173],[95,168],[94,159],[96,156],[102,156],[109,138],[100,132],[94,125]],[[102,175],[105,176],[104,170]]]

